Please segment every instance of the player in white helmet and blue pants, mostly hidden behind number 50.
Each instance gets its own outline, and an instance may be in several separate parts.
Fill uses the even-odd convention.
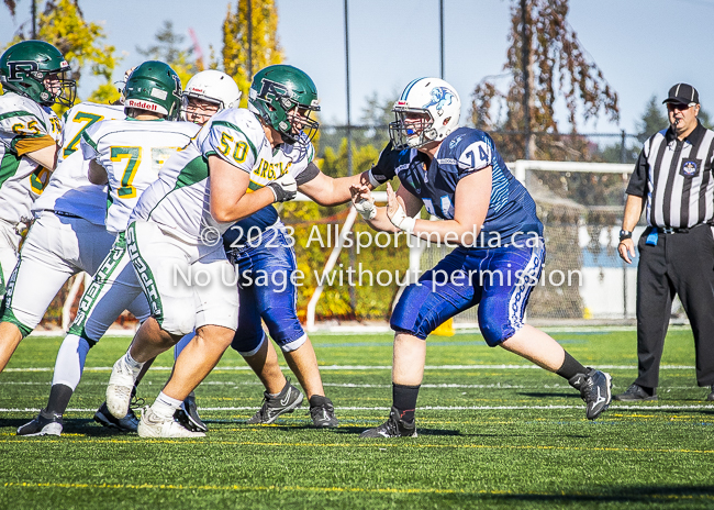
[[[187,120],[203,125],[213,114],[223,110],[224,104],[237,108],[239,95],[231,77],[216,70],[204,70],[187,84],[182,113]],[[263,101],[250,101],[249,108],[255,108],[254,104],[260,107],[261,103]],[[292,154],[290,145],[283,144],[280,147]],[[305,160],[301,164],[306,164],[312,159],[313,152],[305,149],[303,154]],[[250,180],[250,187],[257,189],[265,186],[268,179],[254,171]],[[246,245],[247,240],[243,234],[248,231],[253,237],[260,233],[260,241],[252,239],[247,243],[249,245]],[[266,342],[261,328],[261,321],[265,321],[270,335],[283,348],[288,364],[308,393],[311,401],[310,414],[315,426],[337,426],[334,407],[324,393],[314,350],[298,320],[295,288],[290,279],[297,269],[294,251],[289,245],[287,232],[275,208],[268,206],[238,221],[224,234],[223,243],[228,259],[238,267],[238,278],[243,277],[243,284],[238,285],[239,329],[232,346],[244,356],[265,386],[263,406],[248,423],[272,423],[280,414],[292,412],[303,400],[300,390],[289,384],[280,370],[275,347]],[[261,273],[275,271],[285,276],[280,286],[248,284]],[[187,335],[176,345],[176,357],[192,337],[193,335]],[[208,430],[199,417],[193,391],[177,410],[175,418],[189,430]]]

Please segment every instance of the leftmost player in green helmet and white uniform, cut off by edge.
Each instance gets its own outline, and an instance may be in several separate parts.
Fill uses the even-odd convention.
[[[0,57],[0,297],[15,266],[30,206],[57,163],[62,122],[51,107],[71,107],[75,82],[69,65],[52,44],[23,41]],[[14,352],[0,350],[0,372]]]

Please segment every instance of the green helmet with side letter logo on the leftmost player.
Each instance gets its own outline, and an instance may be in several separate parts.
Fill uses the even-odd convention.
[[[55,102],[71,107],[77,97],[77,82],[65,78],[70,73],[64,55],[44,41],[23,41],[10,46],[0,57],[0,84],[44,106]],[[52,75],[57,75],[56,79]]]

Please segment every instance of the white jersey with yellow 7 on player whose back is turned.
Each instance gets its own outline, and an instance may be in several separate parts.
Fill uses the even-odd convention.
[[[96,159],[109,177],[108,232],[126,230],[141,195],[199,129],[191,122],[125,119],[100,121],[85,130],[79,143],[85,159]]]

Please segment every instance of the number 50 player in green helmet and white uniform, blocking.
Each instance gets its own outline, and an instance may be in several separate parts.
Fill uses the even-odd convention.
[[[270,113],[231,109],[214,115],[167,162],[132,213],[129,252],[152,318],[114,364],[107,389],[110,412],[125,414],[144,363],[193,328],[197,332],[164,391],[142,414],[141,436],[204,435],[172,417],[235,336],[237,291],[235,280],[226,278],[233,268],[221,234],[236,220],[294,198],[298,182],[319,203],[338,203],[349,200],[350,184],[366,179],[331,179],[311,165],[310,140],[319,124],[310,114],[319,107],[308,75],[291,66],[270,66],[256,75],[250,95],[249,101],[268,103],[264,111]],[[276,151],[283,144],[289,147]],[[254,174],[265,180],[253,182]]]

